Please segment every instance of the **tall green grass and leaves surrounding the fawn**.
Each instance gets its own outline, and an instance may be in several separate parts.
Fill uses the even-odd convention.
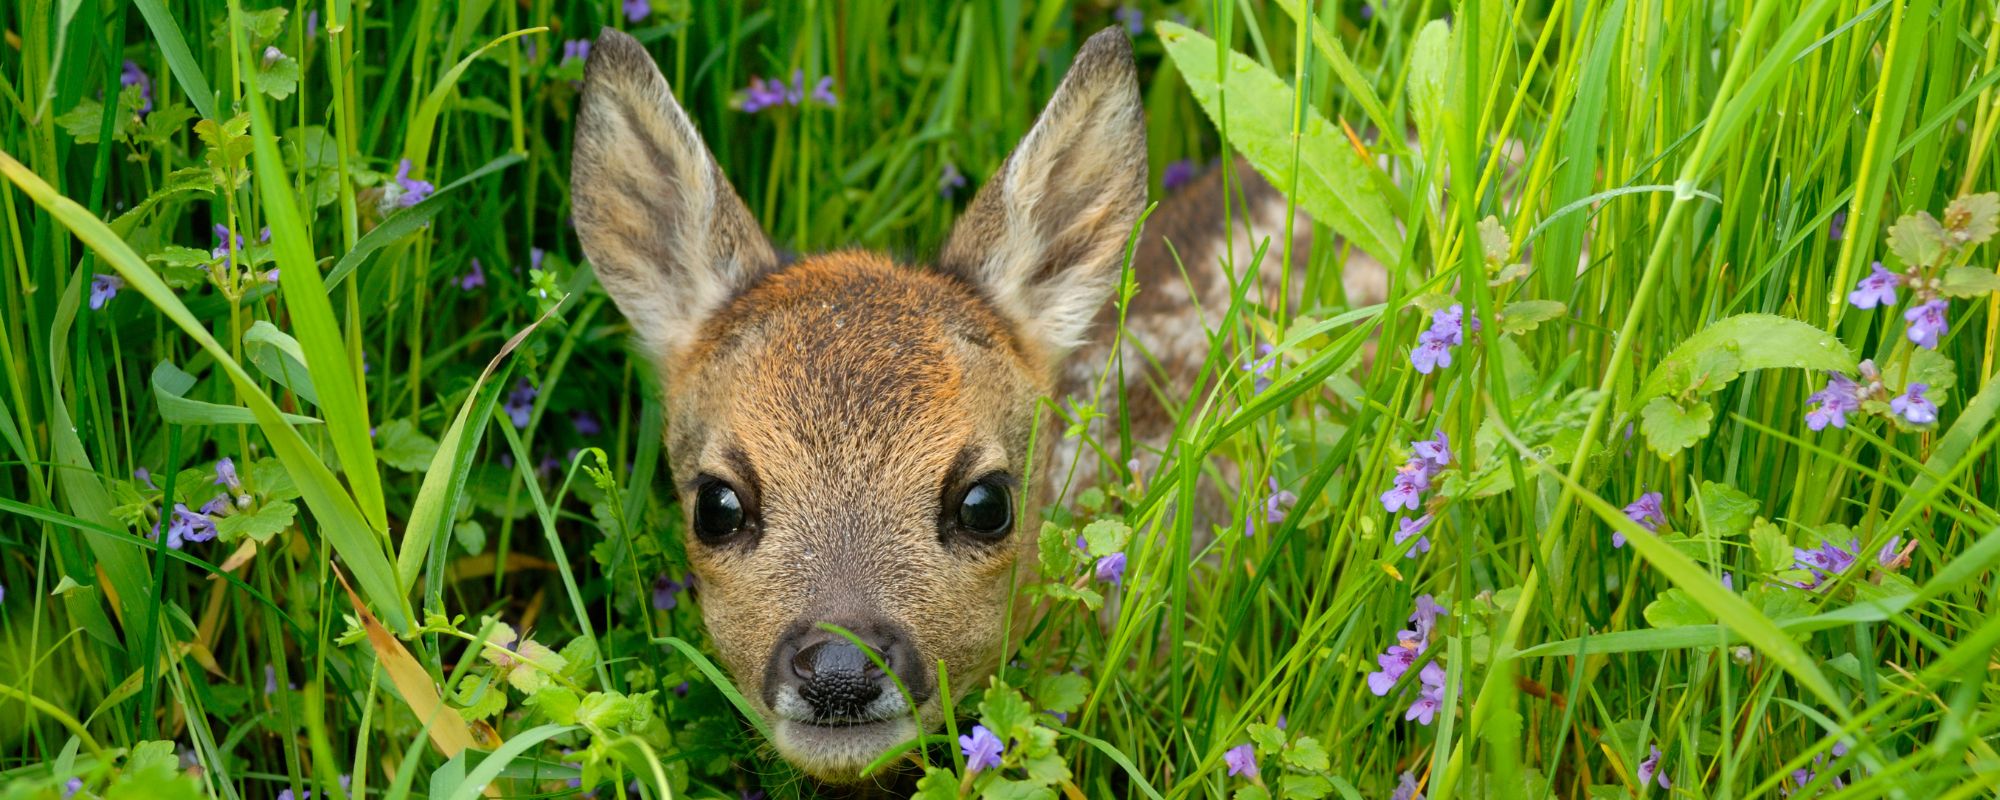
[[[1026,588],[1050,612],[886,768],[990,798],[1992,796],[1996,246],[1930,254],[1898,220],[2000,184],[2000,8],[1370,4],[1134,4],[1154,188],[1244,152],[1322,222],[1306,292],[1232,308],[1156,474],[1052,510]],[[654,378],[566,224],[564,40],[646,42],[780,246],[922,260],[1114,6],[256,6],[0,8],[0,798],[576,794],[564,764],[598,796],[810,794],[708,664],[698,596],[652,604],[682,524]],[[144,122],[100,106],[128,60]],[[794,70],[840,104],[732,108]],[[402,158],[438,186],[414,208]],[[214,224],[272,236],[220,260]],[[1326,224],[1388,264],[1386,304],[1348,304]],[[1848,304],[1876,260],[1950,276],[1936,350],[1908,286]],[[96,274],[124,284],[104,308]],[[1484,324],[1420,374],[1452,302]],[[1808,430],[1862,358],[1938,422],[1876,398]],[[1434,430],[1456,458],[1404,558],[1380,494]],[[220,536],[144,538],[218,458],[246,496]],[[1168,512],[1222,464],[1248,490],[1192,552]],[[1276,524],[1266,476],[1302,498]],[[1620,512],[1644,492],[1656,532]],[[1876,560],[1892,538],[1906,564]],[[1858,564],[1782,586],[1822,542]],[[1086,578],[1120,548],[1124,584]],[[1450,608],[1430,724],[1404,720],[1420,666],[1366,680],[1424,594]],[[1012,734],[1004,770],[962,774],[972,724]],[[1246,742],[1254,780],[1224,760]],[[1652,746],[1672,790],[1636,776]]]

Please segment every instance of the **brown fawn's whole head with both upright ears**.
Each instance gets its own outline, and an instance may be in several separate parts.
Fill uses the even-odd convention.
[[[934,268],[780,264],[646,50],[614,30],[592,48],[576,230],[664,380],[718,656],[816,778],[938,726],[940,662],[954,690],[1000,664],[1036,548],[1034,404],[1112,292],[1144,154],[1132,50],[1106,30]]]

